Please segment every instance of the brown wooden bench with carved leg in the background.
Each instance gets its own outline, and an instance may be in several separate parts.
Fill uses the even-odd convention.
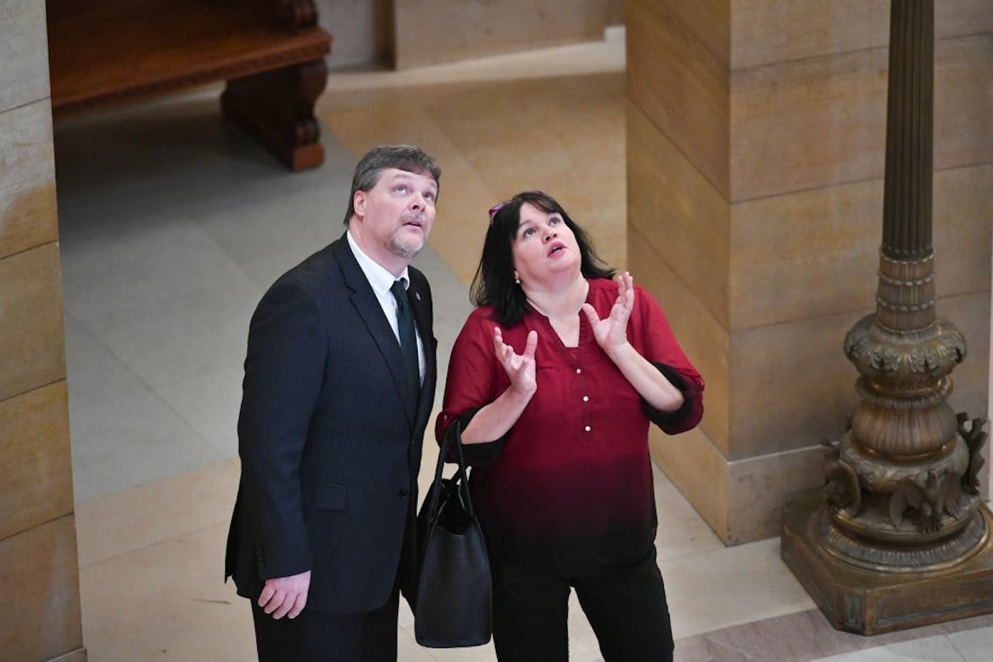
[[[227,118],[294,171],[324,161],[313,0],[48,0],[48,21],[56,119],[226,80]]]

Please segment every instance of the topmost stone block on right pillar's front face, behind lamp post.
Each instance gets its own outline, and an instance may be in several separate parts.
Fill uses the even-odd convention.
[[[731,4],[731,66],[885,47],[890,41],[890,0],[735,0]],[[934,3],[937,39],[993,32],[984,0]]]

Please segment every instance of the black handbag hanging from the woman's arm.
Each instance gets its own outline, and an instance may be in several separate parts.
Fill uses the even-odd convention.
[[[490,556],[473,512],[459,432],[450,430],[442,440],[434,482],[417,514],[421,557],[414,637],[431,648],[481,646],[493,633]],[[443,478],[453,438],[459,468],[451,478]]]

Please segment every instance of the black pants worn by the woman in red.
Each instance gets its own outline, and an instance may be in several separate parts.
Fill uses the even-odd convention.
[[[593,626],[605,662],[670,662],[672,628],[651,548],[636,564],[564,576],[495,559],[494,644],[500,662],[565,662],[569,590]]]

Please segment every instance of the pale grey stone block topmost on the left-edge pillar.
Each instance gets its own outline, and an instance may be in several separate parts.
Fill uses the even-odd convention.
[[[0,63],[0,112],[49,96],[45,0],[0,0]]]

